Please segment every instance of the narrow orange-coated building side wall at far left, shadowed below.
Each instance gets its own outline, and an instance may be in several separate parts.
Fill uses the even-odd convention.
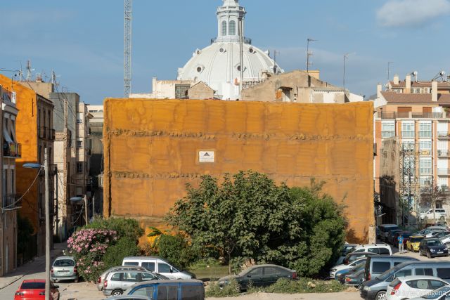
[[[19,110],[15,122],[15,136],[22,144],[22,157],[15,160],[15,190],[22,194],[30,187],[37,171],[24,169],[26,162],[37,162],[37,94],[25,86],[11,81],[11,78],[0,74],[0,85],[8,91],[15,91],[15,106]],[[39,211],[37,199],[37,183],[23,197],[20,203],[20,215],[26,216],[32,222],[34,230],[39,228]]]

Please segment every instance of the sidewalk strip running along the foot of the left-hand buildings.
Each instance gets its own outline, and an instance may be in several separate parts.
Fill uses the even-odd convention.
[[[54,244],[55,249],[50,250],[50,261],[56,257],[63,255],[63,249],[67,248],[67,243]],[[12,285],[14,282],[20,280],[26,275],[31,275],[34,273],[45,272],[45,255],[36,256],[32,261],[25,263],[13,270],[13,272],[6,274],[4,277],[0,277],[0,289]]]

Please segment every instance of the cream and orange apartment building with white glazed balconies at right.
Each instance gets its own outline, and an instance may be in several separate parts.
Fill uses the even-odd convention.
[[[433,185],[444,190],[450,185],[450,82],[411,80],[410,74],[400,81],[396,75],[387,84],[386,91],[378,84],[374,107],[375,147],[380,154],[374,158],[375,192],[380,193],[380,200],[386,206],[385,213],[397,211],[397,216],[394,212],[387,213],[383,222],[399,221],[401,168],[412,170],[411,180],[418,185],[416,194]],[[390,138],[396,138],[398,145],[386,143]],[[383,149],[383,144],[390,150]],[[397,178],[392,175],[396,171],[386,174],[385,169],[380,168],[387,165],[383,159],[398,160],[393,165],[399,169]],[[388,193],[387,190],[392,188],[396,192]],[[388,197],[397,199],[388,200]],[[411,203],[413,216],[425,209],[417,206],[418,197],[420,195]],[[393,207],[394,203],[397,207]],[[442,202],[438,201],[437,207],[442,207]]]

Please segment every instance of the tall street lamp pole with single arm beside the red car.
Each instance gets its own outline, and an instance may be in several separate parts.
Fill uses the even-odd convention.
[[[45,171],[45,300],[50,299],[50,172],[49,152],[44,149],[44,165],[38,163],[23,164],[27,169],[41,169]]]

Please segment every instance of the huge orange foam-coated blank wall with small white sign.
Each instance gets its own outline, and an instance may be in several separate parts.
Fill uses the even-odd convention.
[[[105,216],[164,226],[203,174],[252,169],[290,186],[326,181],[347,206],[349,241],[373,226],[373,105],[106,99]],[[216,162],[198,162],[214,150]]]

